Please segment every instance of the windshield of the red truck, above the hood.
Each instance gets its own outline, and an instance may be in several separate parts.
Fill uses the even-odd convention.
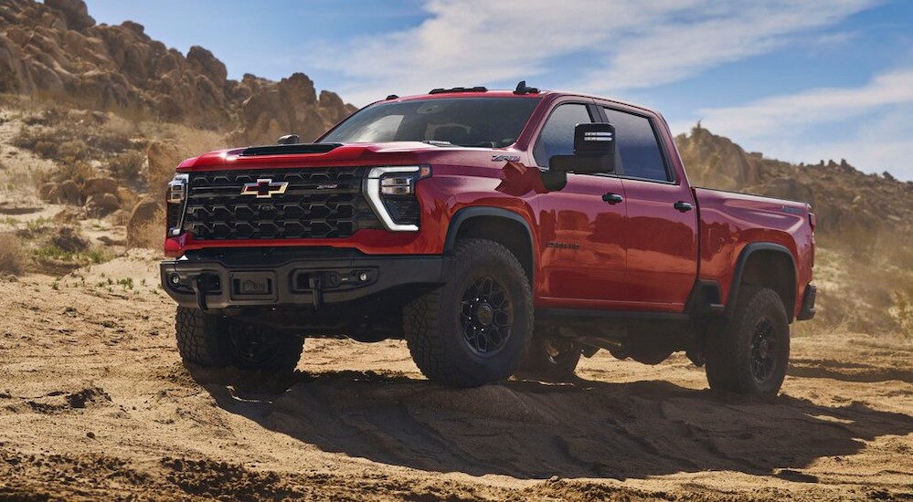
[[[516,142],[536,98],[441,98],[381,102],[349,117],[323,143],[425,141],[503,148]]]

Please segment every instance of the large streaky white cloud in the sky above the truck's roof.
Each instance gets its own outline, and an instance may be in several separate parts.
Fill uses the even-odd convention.
[[[430,17],[419,26],[324,47],[308,58],[344,75],[351,83],[337,90],[359,104],[388,91],[521,78],[535,83],[559,58],[587,61],[553,78],[561,87],[608,93],[674,82],[768,52],[873,3],[429,0]]]

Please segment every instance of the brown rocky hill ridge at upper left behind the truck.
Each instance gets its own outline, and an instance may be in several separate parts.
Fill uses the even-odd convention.
[[[82,0],[0,3],[0,92],[236,131],[247,144],[289,132],[310,141],[355,110],[334,92],[318,96],[303,73],[280,82],[227,75],[203,47],[185,56],[133,21],[96,25]]]

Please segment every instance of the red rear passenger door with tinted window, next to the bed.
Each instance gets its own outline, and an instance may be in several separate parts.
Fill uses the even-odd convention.
[[[655,117],[609,106],[615,126],[616,172],[627,204],[625,300],[644,309],[682,311],[697,275],[697,208],[678,179]],[[671,140],[671,139],[670,139]]]

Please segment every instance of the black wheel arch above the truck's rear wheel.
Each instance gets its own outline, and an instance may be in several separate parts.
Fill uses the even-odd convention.
[[[786,246],[755,242],[742,249],[729,288],[726,315],[731,317],[743,286],[770,288],[780,296],[792,322],[796,309],[796,261]]]

